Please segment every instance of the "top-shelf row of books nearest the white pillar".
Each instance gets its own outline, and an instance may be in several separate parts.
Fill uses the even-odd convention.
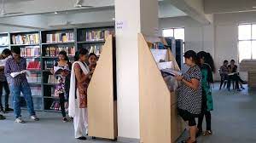
[[[104,41],[114,31],[86,31],[85,41]]]

